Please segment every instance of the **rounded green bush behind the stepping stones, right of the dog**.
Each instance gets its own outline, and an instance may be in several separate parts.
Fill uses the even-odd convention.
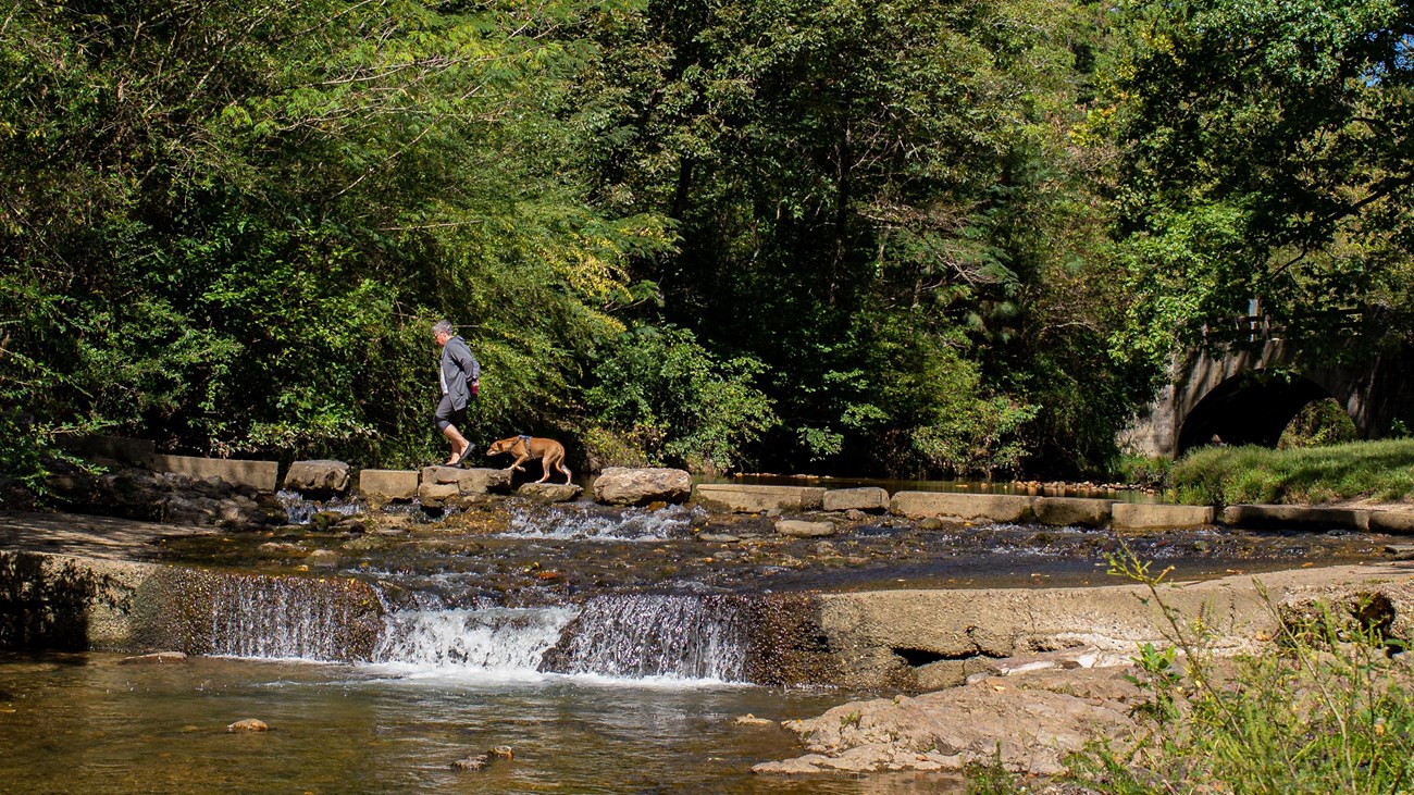
[[[584,392],[600,454],[723,471],[776,423],[749,356],[718,361],[686,330],[635,327],[605,345]],[[621,447],[612,450],[612,444]]]

